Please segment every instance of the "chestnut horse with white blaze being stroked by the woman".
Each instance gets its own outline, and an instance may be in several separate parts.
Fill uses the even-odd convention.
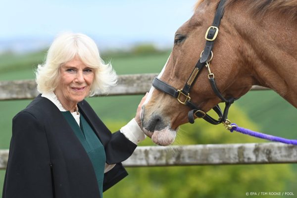
[[[194,15],[176,31],[172,52],[157,77],[163,82],[161,87],[180,90],[196,76],[193,69],[219,2],[199,0]],[[191,81],[191,99],[182,94],[182,101],[178,101],[154,87],[149,91],[141,122],[146,135],[157,145],[173,143],[178,127],[188,122],[191,108],[181,104],[188,99],[198,107],[198,113],[204,113],[222,98],[239,99],[252,85],[259,85],[297,107],[297,0],[225,0],[223,9],[213,41],[213,58],[211,63],[210,57],[206,58],[207,65]],[[209,73],[215,76],[220,98],[209,82]]]

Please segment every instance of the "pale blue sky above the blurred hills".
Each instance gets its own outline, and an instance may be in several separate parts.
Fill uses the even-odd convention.
[[[49,45],[65,31],[87,34],[102,48],[172,45],[197,0],[0,1],[0,50],[23,50]]]

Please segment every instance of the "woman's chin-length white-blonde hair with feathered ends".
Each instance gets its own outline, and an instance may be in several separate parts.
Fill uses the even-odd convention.
[[[99,55],[95,42],[80,33],[63,33],[55,38],[49,47],[46,61],[35,71],[37,90],[40,93],[54,91],[60,80],[60,66],[74,57],[95,69],[95,77],[90,96],[107,93],[115,86],[117,76],[110,63],[105,64]]]

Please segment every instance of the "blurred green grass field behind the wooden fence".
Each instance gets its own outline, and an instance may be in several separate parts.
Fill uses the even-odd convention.
[[[150,54],[103,54],[103,59],[110,61],[117,74],[158,73],[169,56],[169,51]],[[33,79],[34,69],[42,63],[45,51],[24,55],[4,54],[0,55],[0,81]],[[90,98],[95,111],[103,122],[117,120],[127,122],[134,117],[136,107],[142,96],[120,96]],[[22,110],[30,100],[0,101],[0,126],[1,138],[0,149],[9,148],[11,137],[11,119]],[[285,138],[297,139],[297,109],[272,91],[253,91],[235,102],[236,109],[246,112],[248,119],[253,121],[257,129],[272,135]],[[116,113],[110,109],[120,109]],[[234,112],[236,113],[236,112]],[[229,117],[231,121],[237,122],[240,114]],[[222,126],[216,126],[222,127]],[[249,128],[250,126],[242,126]],[[251,128],[253,129],[253,128]],[[243,141],[245,142],[245,141]],[[259,142],[254,139],[253,142]],[[219,143],[219,142],[218,142]],[[206,142],[207,144],[207,142]],[[295,165],[295,171],[297,172]],[[0,194],[4,170],[0,171]],[[292,190],[297,182],[290,182],[287,190]],[[297,192],[296,192],[297,193]]]

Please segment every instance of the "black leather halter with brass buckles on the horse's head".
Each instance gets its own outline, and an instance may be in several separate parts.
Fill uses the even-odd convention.
[[[216,86],[216,83],[214,80],[214,74],[211,73],[210,67],[209,67],[210,61],[213,56],[211,50],[213,48],[214,40],[217,37],[218,31],[219,31],[218,27],[220,25],[221,18],[223,17],[223,13],[224,13],[224,3],[225,3],[225,0],[221,0],[217,7],[212,26],[210,26],[207,29],[206,34],[205,34],[205,40],[206,40],[205,48],[201,52],[200,59],[198,60],[196,66],[195,66],[191,76],[189,77],[187,83],[185,84],[184,88],[177,90],[177,89],[173,88],[172,86],[168,85],[167,83],[162,82],[157,77],[155,77],[152,81],[152,86],[155,87],[157,90],[160,90],[166,94],[173,96],[180,103],[187,105],[192,109],[188,113],[189,122],[192,124],[194,123],[194,119],[195,119],[194,116],[196,116],[198,118],[203,118],[207,122],[209,122],[211,124],[215,124],[215,125],[220,124],[220,123],[225,123],[227,116],[228,116],[228,110],[229,110],[231,104],[235,100],[234,98],[225,99],[223,97],[223,95],[220,93],[220,91],[218,90],[218,88]],[[204,111],[202,111],[197,105],[195,105],[191,101],[191,98],[190,98],[190,90],[193,86],[193,83],[196,81],[197,77],[199,76],[199,74],[204,66],[208,70],[208,79],[209,79],[210,85],[211,85],[214,93],[222,101],[225,102],[225,109],[224,109],[223,113],[222,113],[218,104],[212,108],[218,114],[218,116],[219,116],[218,120],[215,120],[214,118],[212,118],[208,114],[206,114]]]

